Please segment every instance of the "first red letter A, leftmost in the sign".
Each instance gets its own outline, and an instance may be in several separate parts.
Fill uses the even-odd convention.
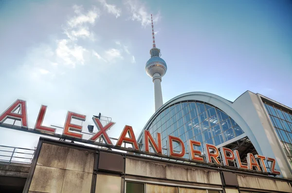
[[[13,113],[15,110],[20,108],[19,113]],[[6,111],[0,115],[0,123],[3,123],[7,118],[18,120],[21,122],[21,127],[27,128],[27,116],[26,116],[26,101],[17,99]]]

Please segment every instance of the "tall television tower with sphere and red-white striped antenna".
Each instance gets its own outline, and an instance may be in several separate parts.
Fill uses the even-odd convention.
[[[161,90],[161,81],[164,76],[167,66],[165,61],[160,58],[160,49],[156,48],[155,37],[154,37],[154,28],[153,28],[153,19],[151,14],[151,24],[152,24],[152,39],[153,47],[150,49],[151,58],[146,62],[146,73],[149,77],[152,78],[154,83],[154,98],[155,98],[155,112],[163,105],[162,99],[162,90]]]

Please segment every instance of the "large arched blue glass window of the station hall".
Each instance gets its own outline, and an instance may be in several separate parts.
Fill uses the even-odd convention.
[[[199,101],[180,102],[167,107],[157,115],[147,130],[153,138],[156,138],[157,132],[161,133],[162,146],[165,149],[167,135],[172,135],[181,138],[185,147],[189,139],[201,142],[201,147],[196,147],[201,151],[205,143],[220,145],[244,133],[226,113]],[[177,143],[173,143],[173,146],[174,150],[180,150]],[[165,149],[163,153],[166,155]],[[152,149],[150,151],[154,152]],[[185,158],[187,156],[186,154]]]

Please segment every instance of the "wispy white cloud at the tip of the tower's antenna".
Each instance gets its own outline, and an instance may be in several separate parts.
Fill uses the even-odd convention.
[[[133,21],[141,22],[143,27],[151,24],[151,14],[146,11],[146,8],[143,4],[138,1],[128,0],[126,1],[126,5],[130,8],[130,12],[132,14],[131,19]],[[160,19],[160,14],[153,16],[153,22],[157,22]]]

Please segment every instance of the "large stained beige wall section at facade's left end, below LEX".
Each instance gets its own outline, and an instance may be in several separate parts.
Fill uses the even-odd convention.
[[[29,193],[90,193],[94,153],[43,144]]]

